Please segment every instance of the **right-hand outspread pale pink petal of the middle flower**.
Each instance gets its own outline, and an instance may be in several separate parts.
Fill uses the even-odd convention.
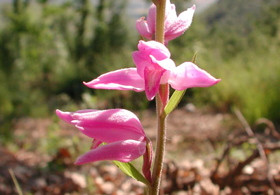
[[[220,82],[207,71],[200,69],[192,62],[184,62],[171,73],[169,83],[173,89],[183,90],[191,87],[210,87]]]

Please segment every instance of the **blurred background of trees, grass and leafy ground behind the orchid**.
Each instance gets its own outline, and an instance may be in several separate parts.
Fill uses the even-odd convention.
[[[180,65],[192,60],[198,51],[196,64],[222,81],[207,89],[188,89],[179,109],[170,115],[168,144],[173,147],[167,148],[167,161],[177,159],[171,164],[177,170],[184,168],[183,173],[194,175],[194,180],[188,184],[173,183],[171,186],[177,188],[170,187],[169,191],[167,182],[164,192],[188,194],[203,190],[201,181],[205,180],[198,178],[206,178],[210,183],[207,186],[211,185],[218,194],[246,194],[246,190],[276,194],[269,174],[264,174],[266,186],[254,191],[248,183],[238,187],[232,187],[230,182],[221,184],[222,181],[215,180],[214,170],[220,166],[216,159],[230,145],[229,135],[236,132],[240,134],[232,137],[246,135],[233,108],[240,109],[252,126],[258,119],[266,118],[266,125],[255,128],[257,139],[265,144],[279,143],[275,136],[268,135],[266,126],[270,124],[274,128],[270,131],[277,137],[280,1],[174,0],[172,3],[177,14],[194,3],[196,12],[190,28],[168,43],[171,58]],[[155,102],[148,102],[144,93],[93,90],[82,84],[107,71],[134,66],[131,52],[137,49],[139,40],[135,23],[140,16],[147,16],[150,5],[150,1],[144,0],[0,0],[0,194],[17,194],[9,168],[24,194],[143,193],[138,183],[127,180],[110,163],[73,165],[75,158],[90,147],[90,139],[60,122],[55,109],[136,111],[147,134],[155,141]],[[246,139],[231,149],[227,153],[231,160],[222,165],[222,173],[229,173],[231,165],[251,157],[256,146]],[[275,171],[274,183],[280,185],[277,183],[280,153],[270,153],[273,153],[269,158],[272,168],[266,163],[264,166],[270,172]],[[249,172],[253,170],[249,174],[253,176],[256,169],[250,163],[246,168]],[[166,164],[168,174],[170,162]],[[191,172],[193,166],[196,172]],[[256,167],[262,166],[257,163]],[[123,180],[117,182],[120,176]],[[252,177],[249,181],[257,182]],[[130,188],[123,187],[126,182]]]

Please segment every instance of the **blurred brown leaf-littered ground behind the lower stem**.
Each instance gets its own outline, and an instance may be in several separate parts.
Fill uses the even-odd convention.
[[[142,111],[137,115],[145,133],[155,144],[157,130],[153,111]],[[225,174],[230,170],[229,165],[234,166],[252,154],[251,150],[255,149],[253,144],[241,145],[242,150],[231,150],[225,160],[227,163],[222,162],[218,174],[213,174],[217,159],[222,157],[222,152],[228,146],[229,135],[235,131],[239,132],[238,136],[242,135],[242,125],[236,116],[211,113],[189,104],[173,111],[168,116],[167,124],[163,182],[166,194],[254,193],[250,187],[252,183],[242,183],[236,189],[220,183],[220,179],[228,180]],[[6,144],[5,148],[1,146],[0,149],[0,194],[17,194],[11,172],[25,194],[144,193],[142,183],[125,176],[111,162],[74,165],[75,158],[90,148],[91,140],[57,117],[19,119],[15,122],[14,137],[14,143]],[[140,161],[133,164],[139,168]],[[270,161],[273,161],[270,172],[273,172],[275,181],[280,182],[279,157]],[[248,182],[257,176],[266,183],[266,172],[257,169],[265,170],[265,166],[262,159],[255,157],[242,168],[240,174],[249,176],[249,179],[236,178]],[[273,193],[269,186],[266,183],[261,186],[262,190],[255,190],[255,193]]]

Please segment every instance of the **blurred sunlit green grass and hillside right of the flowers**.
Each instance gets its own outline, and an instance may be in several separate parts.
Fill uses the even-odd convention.
[[[280,121],[279,1],[218,1],[170,49],[178,65],[199,51],[197,65],[222,78],[194,89],[196,102],[218,111],[238,106],[249,122]]]

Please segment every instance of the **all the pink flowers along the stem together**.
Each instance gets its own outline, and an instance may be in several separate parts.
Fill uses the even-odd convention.
[[[92,89],[116,89],[145,91],[147,99],[153,100],[161,84],[170,84],[173,89],[184,90],[191,87],[210,87],[220,79],[211,76],[192,62],[183,62],[176,66],[170,58],[166,45],[185,32],[192,23],[195,5],[177,16],[175,5],[166,0],[164,40],[165,44],[153,41],[155,36],[156,6],[149,9],[147,21],[144,17],[136,22],[136,29],[148,41],[139,41],[138,51],[133,51],[132,58],[136,67],[118,69],[84,82]],[[105,111],[81,110],[74,113],[56,111],[58,117],[75,125],[81,133],[91,137],[91,150],[82,154],[76,164],[101,160],[129,162],[144,155],[143,170],[151,167],[151,151],[147,151],[147,139],[136,115],[123,109]],[[105,143],[105,145],[101,145]],[[144,172],[151,178],[150,172]],[[149,175],[149,176],[147,176]],[[151,179],[149,179],[151,180]]]

